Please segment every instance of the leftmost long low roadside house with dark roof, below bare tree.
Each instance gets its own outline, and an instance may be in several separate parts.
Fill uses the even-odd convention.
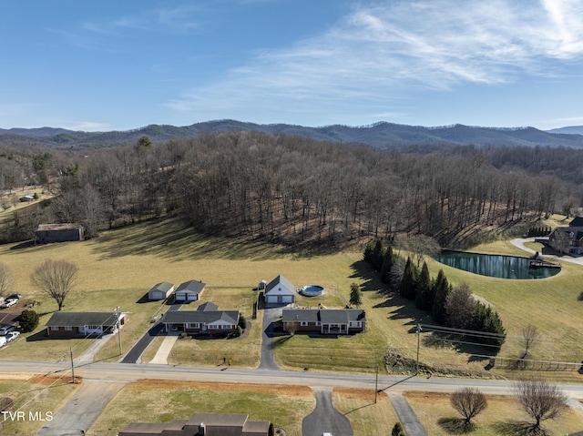
[[[113,333],[126,323],[125,312],[62,312],[53,313],[46,323],[46,335],[51,338],[77,338]]]

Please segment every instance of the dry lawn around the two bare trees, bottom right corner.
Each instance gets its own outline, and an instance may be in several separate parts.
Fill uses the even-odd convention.
[[[463,434],[452,429],[454,420],[460,415],[450,404],[450,396],[431,392],[405,392],[405,398],[417,414],[419,421],[424,426],[427,434],[431,436],[449,436]],[[514,435],[508,424],[519,423],[527,420],[527,415],[522,412],[511,397],[486,396],[488,406],[474,420],[476,430],[472,436]],[[570,432],[580,431],[583,414],[569,408],[566,413],[557,420],[544,421],[544,428],[549,434],[561,436]]]

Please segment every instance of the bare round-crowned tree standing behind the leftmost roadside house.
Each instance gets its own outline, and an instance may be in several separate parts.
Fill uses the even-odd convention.
[[[66,296],[75,286],[77,266],[66,260],[45,260],[30,277],[33,284],[45,291],[63,309]]]

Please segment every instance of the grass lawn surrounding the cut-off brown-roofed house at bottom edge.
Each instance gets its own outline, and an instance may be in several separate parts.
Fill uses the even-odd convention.
[[[109,402],[87,435],[113,436],[130,422],[189,419],[196,412],[248,413],[251,421],[271,421],[298,435],[315,402],[312,390],[302,386],[141,380]]]

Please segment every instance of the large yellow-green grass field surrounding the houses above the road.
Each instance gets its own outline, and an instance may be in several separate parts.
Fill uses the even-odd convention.
[[[478,246],[473,251],[517,254],[524,256],[509,242]],[[298,299],[298,305],[329,307],[342,306],[349,298],[350,284],[363,289],[367,330],[346,338],[312,339],[304,335],[280,337],[276,343],[276,360],[286,368],[302,370],[347,370],[373,372],[377,364],[383,370],[383,356],[387,348],[404,357],[414,359],[417,322],[431,324],[426,313],[412,307],[399,296],[383,292],[384,286],[362,260],[360,251],[346,251],[330,255],[293,255],[280,248],[244,243],[221,238],[202,237],[178,222],[152,221],[133,227],[105,232],[95,240],[51,244],[38,247],[5,245],[0,247],[0,261],[13,272],[17,290],[24,299],[36,299],[42,314],[41,325],[33,340],[18,340],[0,350],[0,359],[57,360],[67,356],[69,348],[74,355],[86,350],[91,340],[35,340],[42,333],[56,303],[34,289],[30,274],[44,259],[68,259],[77,264],[79,282],[66,299],[66,310],[113,310],[116,306],[129,312],[129,321],[122,329],[123,349],[128,348],[148,328],[149,319],[167,309],[159,302],[144,299],[148,289],[162,280],[178,284],[188,279],[200,279],[209,289],[203,300],[212,300],[221,309],[240,308],[251,320],[250,337],[229,341],[179,341],[171,359],[180,364],[214,365],[222,360],[223,349],[229,342],[233,356],[248,354],[246,359],[233,359],[233,365],[252,367],[258,361],[260,318],[253,320],[251,308],[256,298],[257,283],[270,280],[278,274],[290,279],[296,287],[320,284],[326,293],[322,298]],[[577,300],[583,268],[564,263],[556,277],[540,280],[492,279],[452,269],[431,259],[427,260],[432,276],[444,269],[450,282],[467,283],[481,298],[493,304],[504,321],[506,344],[499,356],[516,358],[521,349],[520,331],[536,321],[542,334],[541,343],[532,350],[539,360],[580,361],[583,356],[583,332],[580,330],[583,303]],[[185,309],[189,309],[188,307]],[[199,344],[199,342],[205,342]],[[429,334],[422,334],[420,360],[431,368],[455,370],[462,374],[481,374],[485,377],[515,377],[515,373],[499,370],[486,371],[486,360],[468,362],[468,355],[455,352],[455,346],[435,343],[429,345]],[[208,347],[207,353],[196,353],[194,347]],[[252,347],[249,352],[248,347]],[[192,347],[192,349],[189,349]],[[221,351],[219,351],[221,350]],[[463,349],[479,354],[485,349]],[[149,350],[153,354],[155,351]],[[197,357],[194,357],[197,355]],[[201,357],[202,356],[202,357]],[[205,361],[204,356],[209,356]],[[111,340],[99,351],[98,360],[117,360],[117,340]],[[547,373],[545,376],[547,377]],[[567,374],[576,380],[577,372]]]

